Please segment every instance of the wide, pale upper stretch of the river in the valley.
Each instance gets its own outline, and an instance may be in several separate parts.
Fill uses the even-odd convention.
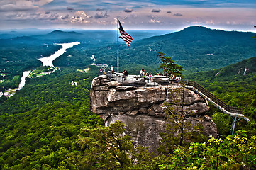
[[[54,67],[53,60],[57,59],[57,57],[60,57],[60,55],[63,55],[68,48],[72,48],[74,45],[79,45],[80,42],[69,42],[69,43],[55,43],[55,45],[61,45],[62,48],[60,50],[57,50],[53,55],[50,55],[49,57],[43,57],[38,60],[43,62],[43,66],[50,66]]]

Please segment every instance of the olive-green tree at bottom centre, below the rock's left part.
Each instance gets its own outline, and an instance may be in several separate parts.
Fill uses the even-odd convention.
[[[129,169],[150,164],[152,154],[146,147],[135,149],[130,135],[124,135],[120,121],[109,127],[84,128],[77,140],[87,154],[89,169]],[[138,167],[138,166],[137,166]]]

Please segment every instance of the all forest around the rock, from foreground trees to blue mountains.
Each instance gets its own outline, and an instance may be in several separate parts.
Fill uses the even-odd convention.
[[[194,35],[206,33],[207,36],[190,36],[189,29],[195,32]],[[123,123],[116,122],[105,128],[103,120],[90,111],[91,81],[98,75],[99,67],[89,65],[91,60],[88,58],[102,55],[98,56],[99,63],[111,64],[113,59],[110,56],[114,54],[112,46],[95,51],[93,47],[84,49],[82,43],[67,50],[55,61],[60,69],[42,77],[26,78],[26,86],[16,91],[14,96],[0,97],[0,169],[256,169],[255,40],[249,36],[251,33],[231,32],[228,38],[223,38],[229,33],[206,28],[189,29],[135,42],[142,45],[140,49],[144,45],[145,51],[138,51],[138,46],[131,49],[121,46],[121,52],[128,52],[121,69],[129,68],[130,73],[138,74],[144,67],[147,72],[156,73],[157,67],[160,67],[157,52],[165,52],[167,57],[182,65],[185,79],[201,84],[228,106],[243,108],[250,121],[239,120],[235,135],[230,135],[231,118],[210,104],[207,114],[216,123],[219,138],[200,134],[195,134],[195,138],[191,134],[189,137],[194,137],[194,140],[180,145],[179,136],[165,134],[157,156],[149,152],[147,147],[134,147],[133,138],[122,135],[125,131]],[[211,35],[211,31],[216,33]],[[59,31],[54,34],[58,34],[60,39],[64,38],[65,42],[69,42],[69,35],[77,35],[71,32],[67,37],[62,37]],[[232,40],[237,40],[228,47],[232,36]],[[51,34],[48,35],[48,38],[51,37]],[[204,42],[209,37],[214,40]],[[222,47],[217,47],[220,37],[223,38]],[[254,43],[251,44],[247,38]],[[33,45],[33,41],[39,39],[42,41]],[[4,80],[1,81],[0,91],[17,87],[26,69],[48,69],[40,67],[37,57],[42,52],[50,55],[60,46],[43,45],[43,39],[43,36],[35,36],[33,40],[28,38],[30,45],[21,40],[18,50],[8,49],[11,40],[0,40],[1,44],[6,44],[0,47],[4,54],[0,56],[3,59],[0,62],[0,80]],[[247,48],[244,48],[246,45]],[[189,46],[191,49],[187,48]],[[22,53],[23,60],[20,60],[23,48],[26,50]],[[195,49],[194,52],[192,49]],[[174,55],[172,52],[175,50],[177,53]],[[84,55],[83,52],[88,53]],[[212,52],[213,56],[205,55]],[[216,57],[218,52],[221,53]],[[138,53],[145,55],[141,57]],[[67,54],[77,57],[67,57]],[[135,56],[134,60],[138,62],[133,63],[129,56]],[[197,57],[193,59],[193,56]],[[200,57],[202,60],[199,60]],[[216,65],[212,65],[215,62]],[[88,68],[89,72],[81,72]]]

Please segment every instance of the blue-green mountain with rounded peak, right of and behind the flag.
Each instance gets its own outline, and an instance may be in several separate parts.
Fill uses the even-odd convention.
[[[256,56],[255,33],[213,30],[201,26],[185,28],[179,32],[154,36],[127,47],[119,47],[120,64],[159,64],[157,52],[164,52],[181,64],[186,72],[200,72],[225,67]],[[96,62],[115,64],[116,45],[85,52],[96,55]]]

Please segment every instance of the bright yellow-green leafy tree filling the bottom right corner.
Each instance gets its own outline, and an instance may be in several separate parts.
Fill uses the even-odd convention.
[[[255,169],[256,137],[238,131],[224,140],[211,137],[208,142],[179,147],[169,157],[171,164],[160,169]]]

